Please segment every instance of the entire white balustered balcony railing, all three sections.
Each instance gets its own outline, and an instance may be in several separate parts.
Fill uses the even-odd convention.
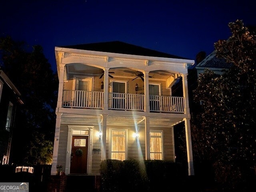
[[[104,92],[64,90],[62,106],[68,108],[103,109]],[[184,113],[184,98],[149,96],[150,112]],[[108,93],[110,110],[145,110],[145,95]]]

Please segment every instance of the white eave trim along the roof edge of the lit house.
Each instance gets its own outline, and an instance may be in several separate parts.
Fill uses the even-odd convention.
[[[189,59],[130,55],[130,54],[121,54],[121,53],[112,53],[112,52],[100,52],[100,51],[91,51],[91,50],[63,48],[63,47],[58,47],[58,46],[55,47],[55,51],[76,52],[76,53],[80,53],[80,54],[92,54],[92,55],[122,56],[125,58],[131,58],[131,57],[134,58],[134,56],[136,56],[138,59],[142,59],[142,60],[151,59],[151,60],[162,60],[162,61],[169,61],[169,62],[184,62],[184,63],[191,64],[191,65],[193,65],[195,63],[194,60],[189,60]]]

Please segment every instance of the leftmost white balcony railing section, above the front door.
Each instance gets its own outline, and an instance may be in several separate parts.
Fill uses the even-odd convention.
[[[104,92],[63,90],[63,107],[103,108]]]

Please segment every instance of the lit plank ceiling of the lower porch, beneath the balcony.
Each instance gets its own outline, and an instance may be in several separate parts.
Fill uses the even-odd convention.
[[[178,124],[182,121],[182,118],[159,118],[150,117],[150,126],[152,127],[170,127]],[[91,125],[98,126],[102,122],[102,115],[77,115],[77,114],[62,114],[63,124],[79,124],[79,125]],[[120,116],[120,115],[108,115],[107,125],[111,126],[144,126],[144,116]]]

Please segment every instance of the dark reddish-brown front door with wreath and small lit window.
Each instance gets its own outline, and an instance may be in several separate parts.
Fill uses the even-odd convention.
[[[87,154],[88,136],[72,136],[70,174],[87,174]]]

